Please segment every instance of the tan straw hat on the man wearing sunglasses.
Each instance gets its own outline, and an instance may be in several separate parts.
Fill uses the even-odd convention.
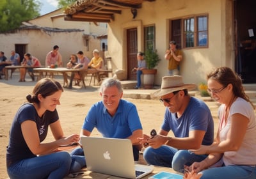
[[[161,89],[157,90],[153,95],[155,97],[161,97],[167,95],[168,93],[172,93],[174,91],[179,91],[182,89],[195,89],[196,84],[184,84],[182,76],[172,75],[165,76],[162,78]]]

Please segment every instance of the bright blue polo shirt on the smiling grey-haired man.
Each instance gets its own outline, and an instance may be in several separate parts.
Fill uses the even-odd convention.
[[[114,116],[108,113],[102,101],[92,105],[82,128],[92,132],[94,127],[103,137],[120,139],[131,136],[134,130],[142,129],[136,106],[122,99]]]

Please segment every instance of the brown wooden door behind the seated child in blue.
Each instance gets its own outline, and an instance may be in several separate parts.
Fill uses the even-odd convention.
[[[136,74],[132,68],[138,66],[137,61],[138,38],[137,28],[127,29],[127,79],[136,79]]]

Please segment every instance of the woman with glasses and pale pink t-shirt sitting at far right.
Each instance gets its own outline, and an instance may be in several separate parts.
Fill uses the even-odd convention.
[[[256,178],[255,107],[244,93],[241,78],[231,68],[219,67],[207,74],[207,85],[211,97],[221,104],[218,133],[211,145],[189,150],[208,157],[187,169],[202,172],[202,179]],[[222,167],[210,167],[220,160]]]

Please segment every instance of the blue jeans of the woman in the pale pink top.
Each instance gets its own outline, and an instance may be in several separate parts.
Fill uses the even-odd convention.
[[[255,179],[256,166],[223,166],[212,167],[202,171],[203,175],[200,179]]]

